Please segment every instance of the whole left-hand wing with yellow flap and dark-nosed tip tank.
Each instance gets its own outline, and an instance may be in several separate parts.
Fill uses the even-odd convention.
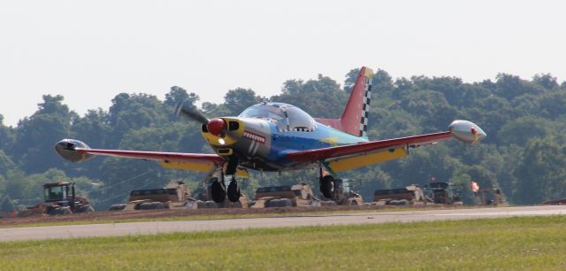
[[[86,143],[74,139],[64,139],[58,142],[55,145],[55,150],[61,157],[72,162],[81,162],[96,155],[103,155],[157,160],[164,167],[200,172],[210,172],[226,163],[225,159],[216,154],[90,149]]]

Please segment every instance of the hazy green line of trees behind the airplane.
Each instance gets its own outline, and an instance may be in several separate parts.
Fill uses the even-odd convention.
[[[342,84],[322,74],[308,81],[288,80],[272,97],[230,89],[223,103],[204,102],[200,109],[209,117],[237,115],[269,100],[299,106],[315,117],[338,118],[357,72],[351,70]],[[393,79],[379,69],[371,95],[371,140],[446,130],[456,119],[477,123],[488,136],[473,146],[448,141],[419,148],[406,159],[340,174],[355,180],[366,200],[374,190],[424,185],[432,178],[466,189],[471,180],[483,188],[499,188],[512,204],[566,197],[566,82],[559,83],[551,74],[536,74],[531,80],[498,74],[494,81],[468,83],[450,76]],[[184,181],[193,191],[201,190],[204,174],[138,159],[97,157],[72,164],[53,149],[62,138],[77,138],[102,149],[210,152],[199,125],[179,120],[173,112],[174,105],[185,100],[195,105],[199,97],[177,86],[162,99],[119,93],[110,108],[80,116],[65,105],[64,97],[45,95],[37,111],[16,127],[6,127],[0,115],[0,210],[42,201],[42,183],[58,180],[76,182],[99,209],[124,202],[130,190],[168,182]],[[317,186],[317,172],[252,172],[242,189],[252,197],[259,186],[296,182]]]

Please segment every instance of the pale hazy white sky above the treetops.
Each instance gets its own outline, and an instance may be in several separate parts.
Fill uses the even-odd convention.
[[[564,1],[2,1],[0,114],[16,126],[42,95],[81,115],[121,92],[172,86],[221,103],[279,94],[352,68],[394,78],[499,73],[566,80]]]

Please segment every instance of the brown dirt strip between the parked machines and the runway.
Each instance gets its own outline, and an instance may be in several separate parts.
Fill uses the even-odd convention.
[[[410,206],[403,206],[407,208]],[[4,217],[0,219],[0,228],[13,227],[22,224],[34,224],[44,222],[59,222],[59,221],[89,221],[96,223],[96,221],[121,221],[132,219],[160,219],[171,217],[190,217],[190,216],[208,216],[208,215],[239,215],[239,214],[264,214],[264,213],[315,213],[315,212],[336,212],[336,211],[370,211],[370,210],[385,210],[385,209],[398,209],[395,206],[377,206],[377,205],[362,205],[362,206],[320,206],[320,207],[274,207],[274,208],[210,208],[210,209],[161,209],[161,210],[135,210],[135,211],[106,211],[95,213],[73,213],[70,215],[47,215],[38,214],[30,217],[23,218],[10,218]],[[419,206],[423,208],[423,206]],[[429,208],[429,207],[427,207]],[[438,207],[437,207],[438,208]]]

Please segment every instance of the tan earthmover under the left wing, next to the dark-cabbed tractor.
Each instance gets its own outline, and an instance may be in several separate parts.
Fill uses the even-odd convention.
[[[184,208],[188,200],[187,185],[175,182],[162,189],[132,190],[127,204],[112,205],[109,211]]]

